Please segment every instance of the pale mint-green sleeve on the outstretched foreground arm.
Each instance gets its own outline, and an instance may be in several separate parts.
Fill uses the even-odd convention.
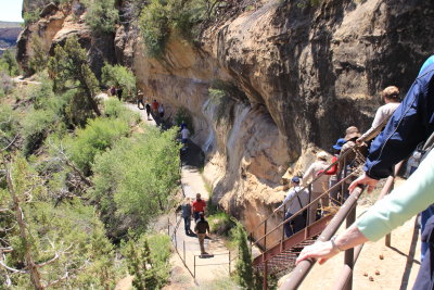
[[[356,222],[359,230],[376,241],[434,203],[434,150],[400,187],[393,190]]]

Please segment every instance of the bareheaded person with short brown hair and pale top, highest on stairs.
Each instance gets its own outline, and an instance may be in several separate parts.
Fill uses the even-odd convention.
[[[385,119],[390,118],[400,104],[399,89],[395,86],[390,86],[385,88],[382,91],[381,97],[385,104],[376,110],[371,128],[367,130],[363,135],[361,135],[356,140],[356,143],[360,144],[362,142],[362,139],[367,138],[373,130],[381,126]]]

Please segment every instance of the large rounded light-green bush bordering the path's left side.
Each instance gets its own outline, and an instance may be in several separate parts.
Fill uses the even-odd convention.
[[[95,157],[90,198],[98,203],[113,236],[128,227],[146,229],[151,217],[167,211],[178,187],[179,144],[176,129],[146,127],[144,135],[118,141]]]

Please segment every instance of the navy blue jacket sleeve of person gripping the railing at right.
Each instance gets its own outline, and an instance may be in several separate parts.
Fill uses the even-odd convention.
[[[390,176],[393,166],[406,159],[434,130],[434,63],[424,66],[384,130],[371,144],[365,164],[365,172],[371,178]]]

